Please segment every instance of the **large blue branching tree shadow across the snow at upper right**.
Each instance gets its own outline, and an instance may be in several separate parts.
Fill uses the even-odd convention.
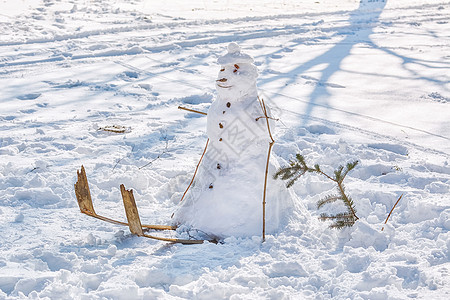
[[[306,125],[308,121],[308,116],[311,116],[316,106],[326,107],[328,105],[328,98],[330,97],[330,88],[343,88],[343,86],[331,84],[328,80],[338,71],[341,70],[341,64],[345,58],[351,55],[352,49],[358,44],[365,44],[368,47],[371,47],[376,50],[381,50],[388,54],[389,56],[396,57],[401,60],[402,67],[408,71],[410,74],[415,76],[418,79],[426,80],[432,83],[438,84],[446,84],[448,82],[440,81],[438,79],[427,77],[419,74],[416,71],[416,66],[422,66],[427,68],[439,68],[433,66],[433,64],[437,63],[436,61],[422,60],[407,57],[395,52],[392,48],[386,48],[377,45],[371,39],[371,35],[374,33],[374,28],[378,25],[379,18],[381,13],[383,12],[386,3],[388,0],[363,0],[360,2],[359,7],[350,13],[350,17],[348,19],[348,25],[345,25],[342,28],[332,29],[336,30],[337,35],[343,35],[344,38],[335,44],[332,48],[324,52],[323,54],[316,56],[315,58],[295,67],[290,72],[280,73],[276,76],[262,79],[259,83],[264,85],[271,81],[276,81],[280,79],[287,79],[285,86],[289,86],[290,84],[294,84],[297,77],[301,76],[301,74],[312,70],[320,65],[325,66],[321,71],[321,75],[319,78],[312,78],[309,76],[301,76],[306,80],[311,80],[315,84],[313,91],[309,95],[308,105],[303,112],[306,116],[304,118],[304,124]],[[305,40],[302,39],[301,42]],[[300,44],[300,42],[298,42]],[[286,51],[286,49],[282,49],[280,51]],[[277,51],[277,52],[280,52]],[[273,53],[273,57],[276,56],[277,53]],[[444,68],[444,67],[441,67]],[[364,71],[358,72],[360,74],[367,74]],[[375,76],[390,76],[385,74],[370,74]],[[392,76],[391,76],[392,77]],[[394,76],[395,79],[399,77]],[[277,92],[281,92],[284,89],[284,86],[281,87]]]

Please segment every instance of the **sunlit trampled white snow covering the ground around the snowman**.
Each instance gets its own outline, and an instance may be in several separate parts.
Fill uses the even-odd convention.
[[[0,299],[448,299],[450,2],[186,2],[0,0]],[[84,164],[100,214],[125,220],[123,183],[143,222],[170,220],[206,142],[177,107],[207,110],[232,41],[281,119],[280,163],[360,160],[356,225],[317,220],[333,186],[311,175],[293,187],[310,216],[265,243],[80,214]]]

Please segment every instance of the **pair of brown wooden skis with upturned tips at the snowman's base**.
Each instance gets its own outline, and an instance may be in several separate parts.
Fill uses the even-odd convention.
[[[202,244],[204,240],[185,240],[177,238],[165,238],[158,237],[154,235],[149,235],[144,232],[149,230],[176,230],[176,226],[170,225],[145,225],[141,224],[141,219],[139,217],[139,212],[137,210],[136,201],[134,200],[133,190],[127,190],[122,184],[120,186],[120,191],[122,193],[123,205],[125,207],[125,213],[127,216],[128,223],[110,219],[104,216],[100,216],[94,210],[94,205],[92,203],[91,192],[89,190],[89,184],[86,177],[86,171],[84,166],[81,166],[81,171],[77,170],[78,180],[75,183],[75,195],[77,197],[78,206],[83,214],[100,219],[116,225],[128,226],[131,233],[137,236],[142,236],[154,240],[171,242],[171,243],[181,243],[181,244]],[[214,241],[211,241],[214,242]]]

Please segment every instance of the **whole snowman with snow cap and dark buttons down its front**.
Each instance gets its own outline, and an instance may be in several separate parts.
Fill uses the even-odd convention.
[[[219,238],[261,235],[265,193],[265,231],[273,234],[295,211],[293,193],[273,179],[279,165],[267,163],[275,122],[258,98],[253,58],[230,43],[218,63],[207,148],[173,221]]]

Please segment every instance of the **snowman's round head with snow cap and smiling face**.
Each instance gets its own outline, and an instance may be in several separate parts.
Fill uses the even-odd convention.
[[[228,53],[219,57],[218,63],[221,69],[216,80],[216,89],[221,98],[239,99],[257,94],[258,71],[253,64],[253,58],[241,53],[241,48],[236,43],[228,45]]]

